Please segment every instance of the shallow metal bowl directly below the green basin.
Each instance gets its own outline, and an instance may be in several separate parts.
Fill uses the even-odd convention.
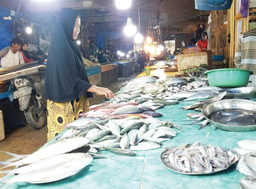
[[[234,98],[256,98],[256,87],[239,87],[233,89],[223,89],[220,92],[227,92]]]

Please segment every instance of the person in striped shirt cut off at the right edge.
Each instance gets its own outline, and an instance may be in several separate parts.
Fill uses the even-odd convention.
[[[238,68],[253,71],[247,87],[256,87],[256,27],[243,33],[237,42],[234,63]]]

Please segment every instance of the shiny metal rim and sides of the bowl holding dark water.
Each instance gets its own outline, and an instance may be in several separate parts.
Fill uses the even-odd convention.
[[[233,132],[248,132],[255,131],[256,125],[248,125],[248,126],[233,126],[233,125],[225,125],[218,122],[213,121],[209,118],[209,116],[217,112],[219,110],[225,109],[243,109],[256,111],[256,102],[252,100],[243,100],[243,99],[228,99],[228,100],[220,100],[217,102],[213,102],[208,104],[202,109],[202,114],[206,117],[206,119],[218,129],[233,131]]]

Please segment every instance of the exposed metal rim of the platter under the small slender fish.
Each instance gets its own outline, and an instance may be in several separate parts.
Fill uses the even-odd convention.
[[[177,147],[177,146],[175,146],[175,147]],[[173,148],[175,148],[175,147],[173,147]],[[218,170],[218,171],[213,171],[213,172],[211,172],[211,173],[187,173],[187,172],[179,172],[179,171],[177,171],[177,168],[176,168],[176,166],[174,166],[173,164],[171,164],[169,161],[168,162],[164,162],[164,159],[165,158],[163,158],[163,154],[164,153],[166,153],[167,151],[169,151],[169,149],[172,149],[172,148],[169,148],[168,150],[165,150],[164,152],[162,152],[161,153],[161,155],[160,155],[160,159],[161,159],[161,161],[162,161],[162,163],[166,166],[166,167],[168,167],[170,170],[172,170],[172,171],[174,171],[174,172],[176,172],[176,173],[180,173],[180,174],[184,174],[184,175],[209,175],[209,174],[212,174],[212,173],[217,173],[217,172],[219,172],[219,171],[223,171],[223,170],[226,170],[227,168],[229,168],[230,166],[232,166],[233,164],[235,164],[239,159],[240,159],[240,155],[237,153],[237,152],[235,152],[234,150],[231,150],[231,149],[228,149],[228,148],[222,148],[222,147],[220,147],[222,150],[226,150],[226,151],[231,151],[232,152],[232,154],[235,156],[235,159],[231,162],[231,164],[229,165],[229,166],[227,166],[226,168],[224,168],[224,169],[222,169],[222,170]]]

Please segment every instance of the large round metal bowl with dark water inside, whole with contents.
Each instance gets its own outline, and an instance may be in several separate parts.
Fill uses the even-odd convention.
[[[252,100],[220,100],[206,105],[202,114],[218,129],[233,132],[256,130],[256,102]]]

